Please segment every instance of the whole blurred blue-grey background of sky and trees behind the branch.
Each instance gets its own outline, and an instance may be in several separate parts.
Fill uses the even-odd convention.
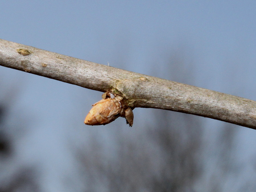
[[[0,38],[256,100],[256,1],[1,1]],[[256,191],[256,131],[0,66],[0,191]]]

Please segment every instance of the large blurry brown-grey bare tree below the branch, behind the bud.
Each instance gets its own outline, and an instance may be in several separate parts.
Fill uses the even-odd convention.
[[[208,152],[200,120],[163,110],[156,110],[155,115],[161,120],[141,127],[143,133],[120,131],[118,148],[111,153],[106,154],[97,137],[92,145],[77,150],[85,191],[197,191],[197,183],[205,182],[206,176],[210,180],[205,191],[225,191],[229,177],[236,175],[228,180],[231,184],[240,177],[234,148],[236,129],[220,129]]]

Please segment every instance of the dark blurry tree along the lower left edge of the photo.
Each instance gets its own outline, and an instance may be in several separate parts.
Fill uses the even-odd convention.
[[[17,135],[20,133],[17,131],[20,119],[13,119],[10,116],[13,97],[7,98],[8,94],[3,92],[3,89],[1,91],[0,98],[3,98],[0,100],[0,192],[38,191],[35,167],[18,165],[15,147]]]

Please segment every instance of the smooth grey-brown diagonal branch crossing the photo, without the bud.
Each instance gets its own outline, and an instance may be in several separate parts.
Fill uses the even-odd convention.
[[[190,113],[256,129],[256,102],[253,100],[1,39],[0,65],[97,91],[117,90],[131,108]]]

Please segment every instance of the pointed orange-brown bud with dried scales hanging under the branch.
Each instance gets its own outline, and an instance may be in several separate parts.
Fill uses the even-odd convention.
[[[85,117],[86,125],[106,125],[117,117],[125,117],[127,124],[133,126],[133,112],[123,97],[106,92],[102,100],[92,105],[92,109]]]

